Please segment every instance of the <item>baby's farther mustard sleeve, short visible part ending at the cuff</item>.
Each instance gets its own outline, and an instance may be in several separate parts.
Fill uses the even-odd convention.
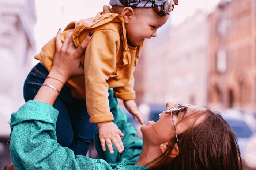
[[[122,100],[133,100],[135,99],[135,91],[134,87],[134,77],[131,75],[131,78],[128,83],[124,86],[114,88],[114,93],[117,98]]]

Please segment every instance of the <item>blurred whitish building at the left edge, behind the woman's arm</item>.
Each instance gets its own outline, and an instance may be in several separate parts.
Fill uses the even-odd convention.
[[[7,122],[24,102],[23,83],[35,50],[34,0],[0,0],[0,136],[9,136]]]

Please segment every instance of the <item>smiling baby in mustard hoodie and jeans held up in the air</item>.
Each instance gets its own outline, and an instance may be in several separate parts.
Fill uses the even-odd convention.
[[[133,72],[143,41],[157,36],[157,29],[167,21],[177,4],[178,0],[110,0],[112,8],[104,6],[96,17],[68,24],[61,40],[72,33],[69,46],[78,47],[88,34],[93,33],[93,37],[80,59],[84,75],[69,79],[53,105],[59,111],[56,133],[60,145],[71,148],[75,154],[86,155],[97,124],[104,151],[106,143],[113,153],[111,142],[118,152],[124,150],[120,137],[124,134],[112,122],[108,96],[122,99],[127,110],[143,124],[134,101]],[[40,86],[59,92],[43,83],[46,78],[59,81],[47,76],[54,54],[52,39],[35,56],[41,63],[31,70],[25,81],[26,101],[34,98]],[[108,93],[110,88],[114,94]],[[69,126],[71,130],[67,130]]]

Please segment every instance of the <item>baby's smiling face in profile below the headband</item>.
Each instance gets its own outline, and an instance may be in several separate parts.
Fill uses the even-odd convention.
[[[157,29],[166,23],[169,15],[158,16],[153,8],[135,8],[135,15],[125,23],[128,40],[138,46],[146,38],[157,36]]]

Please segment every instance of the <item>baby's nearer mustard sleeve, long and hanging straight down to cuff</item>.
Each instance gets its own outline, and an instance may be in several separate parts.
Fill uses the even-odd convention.
[[[116,55],[120,46],[119,33],[104,29],[93,33],[86,48],[84,75],[86,105],[90,123],[112,121],[106,82],[116,68]]]

